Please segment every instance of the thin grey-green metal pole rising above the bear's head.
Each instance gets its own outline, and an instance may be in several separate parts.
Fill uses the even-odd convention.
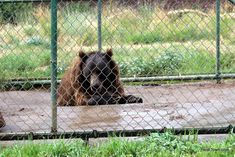
[[[102,50],[102,32],[101,32],[101,27],[102,27],[102,0],[98,0],[98,50]]]

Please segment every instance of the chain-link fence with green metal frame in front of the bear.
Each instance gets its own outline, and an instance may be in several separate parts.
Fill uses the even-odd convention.
[[[233,128],[234,1],[51,3],[0,1],[1,140]]]

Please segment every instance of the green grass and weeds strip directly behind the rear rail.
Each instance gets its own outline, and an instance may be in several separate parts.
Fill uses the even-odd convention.
[[[187,43],[172,43],[142,47],[123,46],[113,47],[114,59],[117,61],[121,75],[127,76],[156,76],[207,74],[215,72],[215,53],[207,49],[195,48]],[[11,47],[4,48],[12,50]],[[17,48],[18,53],[10,53],[0,57],[1,79],[12,78],[49,78],[50,77],[50,47],[47,42],[38,38],[27,40]],[[20,53],[19,53],[20,52]],[[58,74],[61,76],[76,52],[67,55],[59,48]],[[235,54],[222,53],[221,67],[223,72],[235,72]]]

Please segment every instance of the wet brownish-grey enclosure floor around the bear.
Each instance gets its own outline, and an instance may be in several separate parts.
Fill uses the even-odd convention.
[[[235,125],[235,82],[125,87],[143,104],[57,107],[58,131],[132,130]],[[49,132],[50,93],[0,92],[1,133]]]

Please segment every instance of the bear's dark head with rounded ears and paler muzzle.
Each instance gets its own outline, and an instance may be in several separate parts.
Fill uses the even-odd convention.
[[[79,82],[88,95],[109,95],[115,90],[114,82],[118,73],[112,60],[112,50],[102,52],[79,52],[81,76]]]

